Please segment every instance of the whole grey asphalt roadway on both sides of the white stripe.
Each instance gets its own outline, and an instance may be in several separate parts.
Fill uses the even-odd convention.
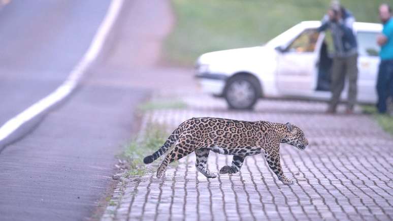
[[[0,152],[1,220],[97,218],[113,184],[115,155],[149,93],[135,73],[154,69],[171,25],[167,1],[147,2],[125,1],[103,54],[77,90],[24,125]],[[109,3],[12,1],[0,11],[0,125],[67,78]]]

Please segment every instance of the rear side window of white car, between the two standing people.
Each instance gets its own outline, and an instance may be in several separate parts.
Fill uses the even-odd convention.
[[[357,31],[357,47],[360,56],[378,56],[379,46],[377,45],[376,32]]]

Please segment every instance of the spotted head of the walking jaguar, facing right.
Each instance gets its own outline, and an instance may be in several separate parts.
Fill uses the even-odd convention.
[[[303,131],[296,125],[285,123],[285,133],[281,139],[281,143],[287,143],[304,150],[308,145],[308,140],[304,136]]]

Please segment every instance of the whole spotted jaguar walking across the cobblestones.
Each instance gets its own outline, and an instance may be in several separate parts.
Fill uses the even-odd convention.
[[[169,150],[157,169],[159,178],[168,164],[194,151],[196,169],[208,178],[215,178],[217,175],[206,168],[210,150],[234,155],[232,165],[222,167],[220,174],[237,173],[246,156],[264,152],[270,169],[278,179],[285,184],[292,184],[295,180],[287,178],[281,168],[280,143],[287,143],[301,150],[308,145],[303,131],[290,123],[213,117],[191,118],[181,123],[167,141],[152,155],[146,156],[143,161],[145,164],[150,164]]]

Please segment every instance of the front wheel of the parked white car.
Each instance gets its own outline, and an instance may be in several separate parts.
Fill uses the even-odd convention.
[[[260,96],[257,80],[249,76],[230,78],[225,86],[224,97],[231,109],[252,109]]]

